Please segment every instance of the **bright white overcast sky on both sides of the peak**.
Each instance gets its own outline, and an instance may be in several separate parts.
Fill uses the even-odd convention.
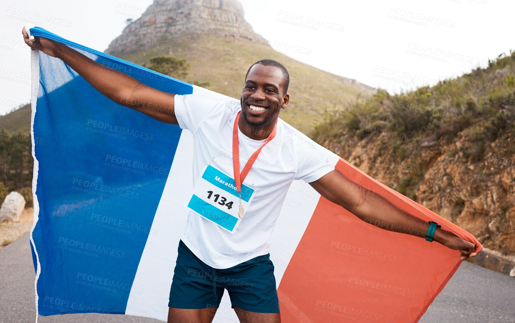
[[[276,50],[390,93],[434,85],[515,49],[512,0],[241,2],[245,19]],[[0,114],[30,100],[27,22],[104,51],[151,3],[1,0]]]

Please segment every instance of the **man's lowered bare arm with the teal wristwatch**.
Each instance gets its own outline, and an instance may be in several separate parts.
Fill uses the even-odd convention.
[[[393,205],[382,195],[352,182],[338,170],[322,176],[310,185],[325,199],[344,207],[365,222],[390,231],[402,228],[402,232],[425,238],[429,223]],[[473,253],[475,249],[473,243],[447,230],[437,228],[433,240],[451,249],[459,250],[461,260],[478,254]]]

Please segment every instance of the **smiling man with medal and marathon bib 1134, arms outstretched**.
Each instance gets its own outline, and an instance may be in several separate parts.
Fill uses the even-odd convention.
[[[284,145],[303,137],[279,119],[289,103],[289,75],[276,61],[250,66],[241,101],[235,103],[161,92],[63,44],[43,38],[30,41],[24,29],[22,33],[28,46],[61,59],[114,102],[192,132],[194,189],[170,288],[168,322],[211,322],[224,289],[241,322],[281,321],[268,238],[282,203],[259,202],[268,196],[283,201],[293,180],[304,180],[362,220],[433,237],[460,250],[460,259],[476,255],[472,243],[412,216],[381,195],[361,187],[346,189],[356,184],[327,164],[317,147]],[[209,177],[208,172],[216,176]],[[236,217],[269,229],[245,227]]]

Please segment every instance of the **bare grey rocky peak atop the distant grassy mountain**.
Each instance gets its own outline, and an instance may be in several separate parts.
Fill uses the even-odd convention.
[[[243,6],[237,0],[155,0],[111,42],[106,53],[130,53],[158,41],[203,36],[262,39],[245,21]]]

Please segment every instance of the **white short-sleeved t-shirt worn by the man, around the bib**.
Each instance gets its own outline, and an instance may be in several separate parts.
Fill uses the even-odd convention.
[[[241,105],[207,95],[175,96],[175,115],[182,129],[193,134],[193,184],[210,164],[234,178],[232,132]],[[240,116],[243,118],[243,115]],[[253,140],[238,128],[240,171],[265,140]],[[323,148],[279,119],[277,134],[261,150],[243,184],[254,198],[234,234],[190,210],[181,240],[204,263],[229,268],[268,254],[268,239],[276,225],[293,180],[314,182],[334,170]]]

